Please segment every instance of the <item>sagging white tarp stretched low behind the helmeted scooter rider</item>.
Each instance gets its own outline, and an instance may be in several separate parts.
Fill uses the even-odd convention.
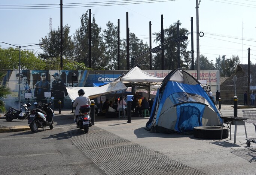
[[[75,100],[78,97],[77,92],[79,89],[83,89],[85,91],[85,95],[92,99],[107,93],[117,91],[124,93],[127,87],[121,81],[110,82],[107,85],[101,87],[67,87],[68,96],[71,100]]]

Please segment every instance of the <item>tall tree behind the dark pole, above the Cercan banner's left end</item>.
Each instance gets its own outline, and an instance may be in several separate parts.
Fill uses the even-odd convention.
[[[85,66],[89,66],[89,10],[86,10],[81,18],[80,28],[76,30],[74,34],[74,52],[75,61],[83,62]],[[93,15],[91,23],[91,33],[92,33],[92,52],[91,52],[91,62],[92,69],[101,69],[106,66],[104,53],[103,41],[100,36],[101,28],[98,27],[95,16]]]

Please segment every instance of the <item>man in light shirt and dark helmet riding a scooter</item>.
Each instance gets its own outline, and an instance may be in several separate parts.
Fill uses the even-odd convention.
[[[75,99],[74,104],[73,104],[73,108],[76,108],[76,110],[75,110],[75,116],[76,116],[75,122],[76,122],[76,124],[77,124],[77,117],[79,115],[80,106],[91,105],[92,104],[89,97],[85,96],[85,91],[83,89],[78,90],[78,95],[79,95],[79,97],[77,97]]]

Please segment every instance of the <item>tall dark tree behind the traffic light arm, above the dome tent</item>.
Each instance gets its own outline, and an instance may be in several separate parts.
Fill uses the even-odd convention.
[[[177,37],[177,24],[181,26],[182,23],[178,20],[176,23],[173,23],[173,25],[170,25],[169,28],[164,29],[164,39],[165,41],[169,41],[171,39],[174,39]],[[185,35],[188,33],[188,30],[185,28],[180,28],[180,36]],[[155,32],[153,35],[156,36],[156,39],[154,42],[161,44],[161,32]],[[186,69],[185,65],[189,65],[189,54],[186,53],[188,46],[187,41],[180,42],[180,68]],[[175,41],[168,42],[164,45],[165,47],[165,69],[167,70],[173,70],[178,67],[178,56],[177,56],[177,43]],[[161,60],[158,60],[159,57],[154,57],[153,62],[155,62],[157,65],[156,67],[159,67],[158,64],[161,66]],[[186,61],[186,64],[183,62]],[[182,67],[184,66],[184,67]]]

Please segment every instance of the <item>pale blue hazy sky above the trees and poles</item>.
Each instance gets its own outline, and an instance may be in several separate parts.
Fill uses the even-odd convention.
[[[96,5],[80,4],[75,8],[63,8],[63,25],[67,24],[71,27],[70,34],[73,35],[80,27],[80,17],[87,9],[92,10],[92,15],[95,15],[96,23],[102,30],[106,29],[108,21],[117,25],[120,19],[121,38],[126,38],[126,12],[128,12],[130,32],[147,43],[149,43],[149,21],[152,22],[152,33],[161,31],[161,15],[164,16],[164,28],[180,20],[182,23],[180,28],[186,28],[191,32],[191,17],[193,17],[194,56],[196,57],[196,0],[116,0],[112,2],[126,4],[113,6],[106,6],[103,1],[110,2],[109,0],[87,0],[86,3]],[[85,1],[63,0],[63,7],[69,3],[77,4]],[[32,4],[40,4],[37,5],[40,9],[21,9],[31,8],[28,5]],[[46,9],[42,9],[42,4],[52,4],[49,6],[57,8],[43,7]],[[39,43],[39,40],[49,32],[49,18],[52,18],[52,28],[57,29],[60,26],[58,4],[60,0],[1,0],[0,41],[21,46]],[[13,9],[15,5],[18,9]],[[21,7],[21,5],[25,6]],[[213,60],[214,63],[219,55],[225,54],[227,58],[238,55],[241,63],[247,64],[250,47],[251,61],[256,63],[255,16],[256,1],[254,0],[202,0],[199,4],[199,31],[204,32],[204,36],[199,38],[200,54]],[[152,35],[152,41],[153,37]],[[190,51],[191,34],[188,37],[188,51]],[[0,46],[9,47],[3,43],[0,43]],[[38,48],[39,46],[27,47],[37,53],[41,51]]]

